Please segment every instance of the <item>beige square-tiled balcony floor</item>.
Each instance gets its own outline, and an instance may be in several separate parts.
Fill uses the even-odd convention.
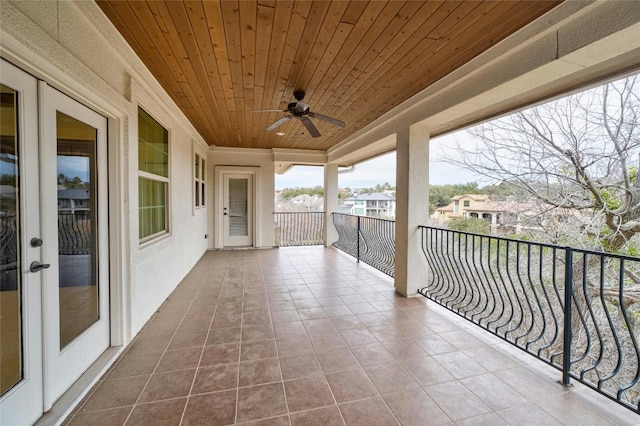
[[[69,425],[640,418],[333,249],[208,252]]]

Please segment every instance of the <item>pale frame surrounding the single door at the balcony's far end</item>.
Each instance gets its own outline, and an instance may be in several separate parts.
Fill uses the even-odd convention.
[[[260,168],[259,167],[235,167],[235,166],[216,166],[215,167],[215,208],[214,208],[214,224],[215,224],[215,248],[222,249],[224,246],[224,184],[225,175],[241,175],[250,177],[253,180],[253,188],[249,194],[253,201],[253,214],[252,214],[252,246],[258,247],[260,245],[260,222],[259,217],[260,209],[260,197],[257,196],[260,190]]]

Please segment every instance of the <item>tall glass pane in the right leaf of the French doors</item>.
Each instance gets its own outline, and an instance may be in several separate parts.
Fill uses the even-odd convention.
[[[60,348],[99,319],[96,129],[56,113]]]

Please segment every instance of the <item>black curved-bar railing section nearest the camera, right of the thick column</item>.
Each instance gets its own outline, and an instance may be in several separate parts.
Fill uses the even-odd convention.
[[[421,294],[639,411],[640,258],[420,228]]]

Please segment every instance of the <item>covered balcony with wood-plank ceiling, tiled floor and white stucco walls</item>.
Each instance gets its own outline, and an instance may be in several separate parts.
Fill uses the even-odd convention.
[[[484,300],[433,281],[430,138],[636,71],[636,2],[0,0],[0,56],[0,423],[638,423],[420,294]],[[395,222],[341,243],[340,173],[392,151]],[[295,165],[312,236],[273,214]]]

